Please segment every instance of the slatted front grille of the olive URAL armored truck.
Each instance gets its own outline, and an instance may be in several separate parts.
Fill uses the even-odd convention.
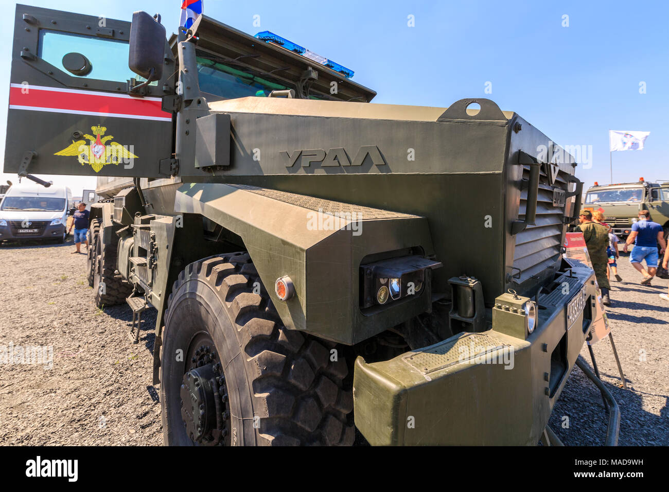
[[[530,179],[530,167],[524,166],[522,178]],[[555,187],[568,191],[564,171],[559,171]],[[518,220],[524,220],[527,208],[527,187],[520,192]],[[560,254],[564,230],[564,207],[553,206],[553,187],[541,169],[539,193],[537,195],[537,220],[535,226],[527,226],[516,234],[516,249],[513,257],[514,281],[522,283],[553,264]]]

